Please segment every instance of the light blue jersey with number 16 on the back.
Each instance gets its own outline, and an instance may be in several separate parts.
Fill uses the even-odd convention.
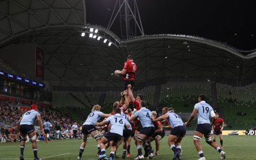
[[[110,132],[114,132],[121,136],[123,136],[124,126],[129,125],[127,120],[124,118],[124,116],[122,116],[120,114],[115,114],[113,116],[109,116],[106,119],[106,122],[108,122],[111,125]]]

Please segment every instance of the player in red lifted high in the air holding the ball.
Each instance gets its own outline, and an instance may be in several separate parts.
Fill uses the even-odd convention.
[[[135,74],[137,71],[137,66],[133,61],[131,55],[127,56],[127,61],[124,63],[123,70],[116,70],[115,75],[123,75],[124,76],[124,90],[127,90],[127,85],[131,84],[132,88],[134,87]]]

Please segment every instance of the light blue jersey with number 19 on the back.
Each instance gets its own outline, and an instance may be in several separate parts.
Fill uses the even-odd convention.
[[[195,109],[198,110],[197,124],[211,124],[210,118],[213,109],[209,104],[205,103],[205,101],[202,100],[201,102],[195,104]]]

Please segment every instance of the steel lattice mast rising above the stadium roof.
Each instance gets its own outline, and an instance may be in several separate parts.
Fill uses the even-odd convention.
[[[122,40],[144,35],[136,0],[116,0],[115,7],[109,20],[108,29],[111,28],[118,15],[120,19]]]

